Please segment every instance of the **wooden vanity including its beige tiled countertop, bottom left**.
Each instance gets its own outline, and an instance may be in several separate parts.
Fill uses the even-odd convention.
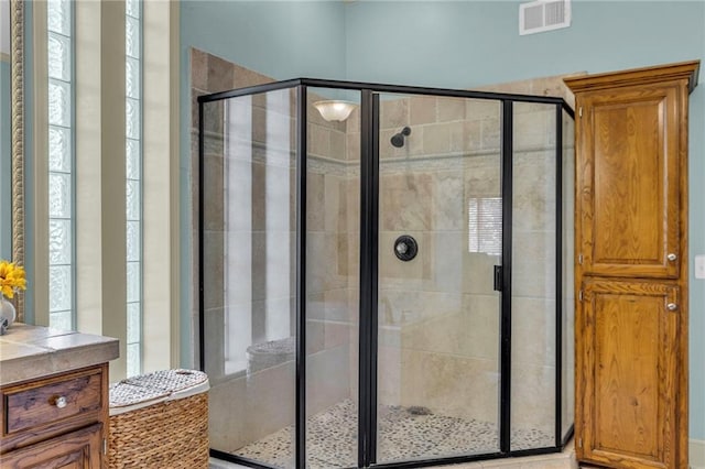
[[[118,340],[15,324],[0,336],[0,467],[106,467]]]

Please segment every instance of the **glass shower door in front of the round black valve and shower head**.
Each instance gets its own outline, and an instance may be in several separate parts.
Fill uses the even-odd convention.
[[[500,108],[380,96],[379,463],[499,450]]]

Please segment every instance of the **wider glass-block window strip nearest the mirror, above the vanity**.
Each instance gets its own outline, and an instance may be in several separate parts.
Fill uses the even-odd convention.
[[[47,2],[50,326],[75,327],[73,11]]]

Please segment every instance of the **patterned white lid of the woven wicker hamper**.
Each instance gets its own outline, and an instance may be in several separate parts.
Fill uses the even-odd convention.
[[[110,408],[135,408],[180,399],[208,389],[208,375],[196,370],[163,370],[110,385]]]

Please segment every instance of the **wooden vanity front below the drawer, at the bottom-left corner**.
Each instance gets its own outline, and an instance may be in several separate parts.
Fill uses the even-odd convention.
[[[102,467],[102,425],[57,436],[0,456],[7,469],[100,469]]]

